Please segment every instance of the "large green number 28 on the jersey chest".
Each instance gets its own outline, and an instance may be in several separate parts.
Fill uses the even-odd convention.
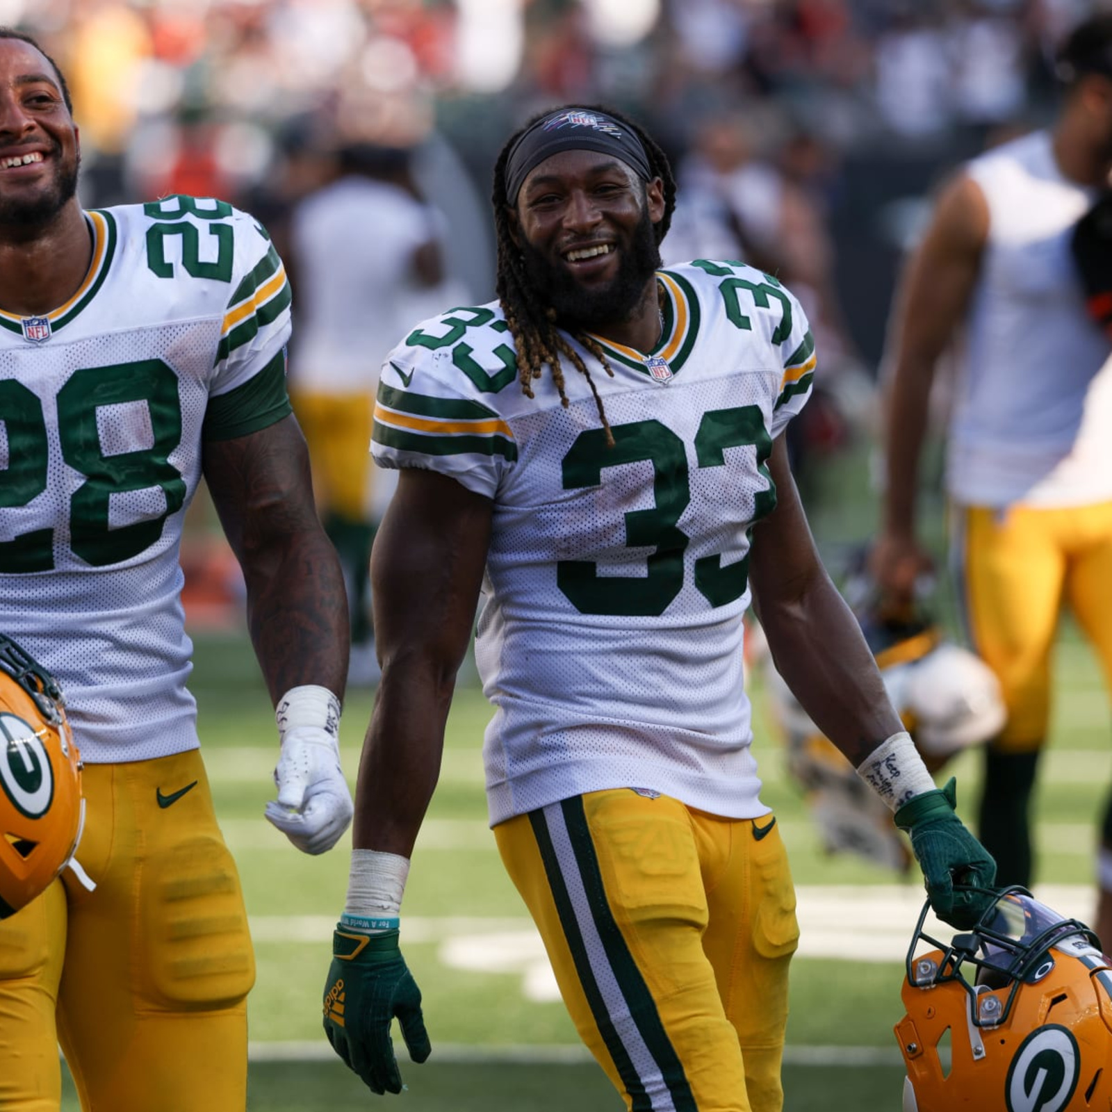
[[[97,411],[102,406],[146,406],[152,443],[131,451],[101,445]],[[8,434],[8,468],[0,470],[0,509],[26,506],[47,488],[49,441],[42,403],[16,379],[0,381],[0,420]],[[70,497],[70,546],[93,567],[138,556],[162,535],[186,497],[181,473],[169,461],[181,441],[178,378],[161,359],[75,371],[58,393],[62,458],[85,481]],[[158,488],[166,512],[130,525],[109,522],[112,495]],[[54,566],[54,530],[33,529],[0,542],[0,573],[48,572]]]

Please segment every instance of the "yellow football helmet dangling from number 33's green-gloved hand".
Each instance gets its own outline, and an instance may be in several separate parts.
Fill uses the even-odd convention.
[[[1112,959],[1096,935],[1019,887],[949,943],[924,932],[927,911],[895,1027],[904,1112],[1112,1108]]]

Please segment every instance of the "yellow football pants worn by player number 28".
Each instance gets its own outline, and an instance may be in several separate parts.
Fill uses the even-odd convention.
[[[78,860],[0,923],[0,1109],[244,1112],[255,981],[239,876],[197,751],[87,765]],[[64,883],[63,883],[64,882]]]

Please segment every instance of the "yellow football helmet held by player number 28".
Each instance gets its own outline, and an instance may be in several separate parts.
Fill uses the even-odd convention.
[[[0,634],[0,919],[46,891],[81,837],[81,755],[57,681]]]

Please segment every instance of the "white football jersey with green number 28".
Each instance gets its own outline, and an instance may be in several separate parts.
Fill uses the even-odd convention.
[[[85,761],[196,748],[178,563],[201,443],[289,413],[286,274],[251,217],[87,214],[81,288],[0,312],[0,629],[54,674]]]

